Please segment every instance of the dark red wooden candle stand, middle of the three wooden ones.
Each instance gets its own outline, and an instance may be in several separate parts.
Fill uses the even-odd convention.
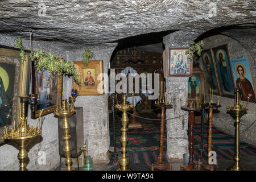
[[[188,143],[188,150],[189,150],[189,162],[188,167],[185,165],[181,165],[180,168],[183,170],[196,170],[193,153],[194,153],[194,122],[195,122],[195,111],[200,111],[201,108],[189,108],[187,106],[182,106],[182,110],[188,111],[188,123],[189,123],[189,143]]]

